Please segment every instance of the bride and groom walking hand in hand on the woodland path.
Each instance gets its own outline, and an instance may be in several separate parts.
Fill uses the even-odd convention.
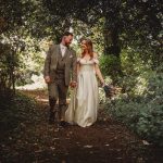
[[[87,127],[97,121],[99,104],[97,76],[103,86],[104,79],[91,40],[80,41],[79,58],[70,48],[72,40],[73,34],[66,32],[62,36],[61,43],[50,46],[47,52],[43,76],[49,91],[49,123],[58,121],[62,127],[67,124]],[[73,93],[67,105],[68,86],[72,87]],[[58,100],[59,106],[55,105]]]

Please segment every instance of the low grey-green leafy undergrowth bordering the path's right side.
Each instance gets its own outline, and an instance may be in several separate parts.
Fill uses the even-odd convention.
[[[108,103],[106,109],[141,138],[163,146],[163,66],[148,78],[139,95],[124,93]],[[139,89],[139,88],[138,88]]]

